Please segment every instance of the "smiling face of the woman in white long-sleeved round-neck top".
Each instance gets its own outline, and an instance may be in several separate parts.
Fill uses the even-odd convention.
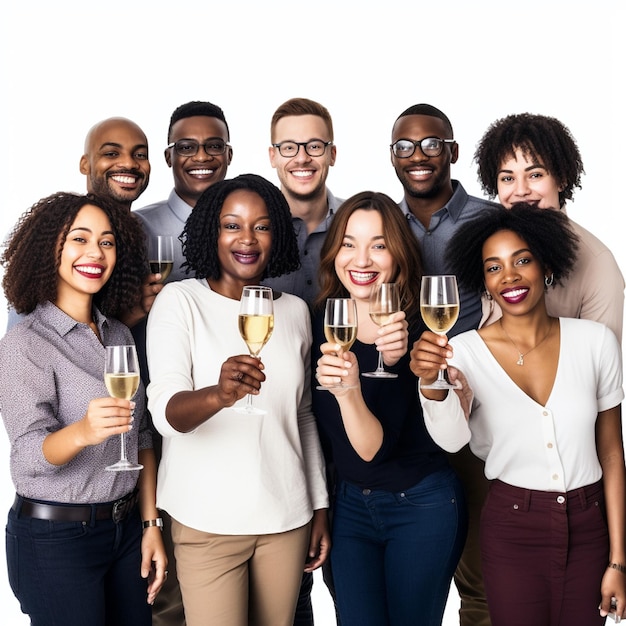
[[[220,277],[211,286],[239,298],[245,285],[261,282],[272,250],[270,216],[261,196],[238,189],[224,200],[220,211],[217,257]]]

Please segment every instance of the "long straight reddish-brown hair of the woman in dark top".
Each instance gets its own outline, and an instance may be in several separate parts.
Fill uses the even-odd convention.
[[[419,292],[423,273],[420,245],[398,205],[389,196],[375,191],[357,193],[337,209],[320,252],[321,289],[314,306],[321,308],[327,298],[345,298],[348,295],[335,272],[335,257],[341,249],[348,220],[360,209],[377,211],[382,218],[385,245],[398,266],[393,281],[400,284],[402,306],[407,319],[413,323],[419,318]]]

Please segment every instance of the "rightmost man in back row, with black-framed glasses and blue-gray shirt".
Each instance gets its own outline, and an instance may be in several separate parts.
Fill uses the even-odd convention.
[[[468,195],[461,183],[452,179],[451,166],[458,159],[459,146],[447,115],[430,104],[413,105],[398,116],[389,152],[404,188],[398,204],[421,244],[424,273],[449,274],[446,247],[456,230],[497,205]],[[480,294],[461,288],[460,297],[459,318],[450,336],[478,328],[481,320]],[[465,549],[454,574],[461,598],[459,620],[461,626],[489,626],[478,539],[478,518],[488,483],[482,461],[468,446],[448,458],[463,483],[469,511]]]

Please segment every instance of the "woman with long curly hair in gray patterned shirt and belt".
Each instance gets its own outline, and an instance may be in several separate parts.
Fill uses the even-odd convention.
[[[26,314],[0,341],[12,589],[34,626],[149,626],[166,558],[143,389],[135,403],[111,398],[103,377],[105,347],[132,344],[115,318],[148,273],[141,226],[102,199],[57,193],[22,216],[3,263],[7,300]],[[141,472],[105,471],[122,433]]]

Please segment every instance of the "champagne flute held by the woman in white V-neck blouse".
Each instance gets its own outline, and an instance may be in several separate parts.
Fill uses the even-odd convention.
[[[438,335],[445,335],[459,317],[459,289],[456,276],[422,276],[420,310],[426,326]],[[439,370],[437,380],[422,389],[456,389]]]

